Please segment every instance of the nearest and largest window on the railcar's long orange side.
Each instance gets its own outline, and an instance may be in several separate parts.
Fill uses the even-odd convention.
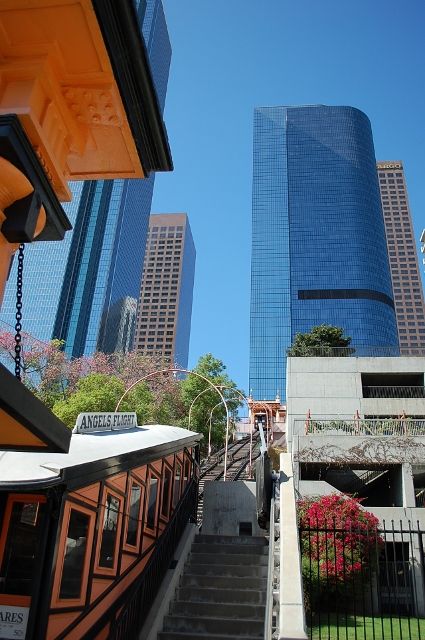
[[[89,524],[90,516],[71,509],[59,591],[61,600],[81,597]]]

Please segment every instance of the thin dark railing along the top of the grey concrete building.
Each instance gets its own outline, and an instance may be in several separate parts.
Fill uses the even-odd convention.
[[[349,347],[303,347],[302,349],[287,350],[288,356],[293,355],[298,358],[393,358],[398,356],[425,356],[425,346],[423,347],[373,347],[369,345],[350,345]]]

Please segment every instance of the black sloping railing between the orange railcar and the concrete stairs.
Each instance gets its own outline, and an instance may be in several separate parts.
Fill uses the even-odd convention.
[[[190,521],[196,522],[197,494],[197,483],[192,480],[167,528],[159,538],[142,575],[125,592],[120,601],[114,604],[113,609],[108,611],[107,616],[112,622],[108,636],[111,640],[128,640],[138,637],[186,525]],[[102,620],[102,624],[107,622],[107,619]]]

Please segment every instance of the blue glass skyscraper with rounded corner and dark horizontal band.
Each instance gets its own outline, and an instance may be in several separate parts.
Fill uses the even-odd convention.
[[[352,107],[254,113],[250,389],[286,392],[286,351],[313,326],[398,350],[372,131]]]

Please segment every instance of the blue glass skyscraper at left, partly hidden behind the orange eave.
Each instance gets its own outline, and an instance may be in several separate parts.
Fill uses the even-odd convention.
[[[162,112],[171,60],[162,0],[134,4]],[[73,201],[64,209],[74,231],[55,247],[40,242],[25,250],[25,331],[45,341],[63,339],[73,356],[128,348],[134,338],[154,179],[151,174],[145,180],[70,184]],[[10,325],[15,283],[14,265],[0,314]]]

